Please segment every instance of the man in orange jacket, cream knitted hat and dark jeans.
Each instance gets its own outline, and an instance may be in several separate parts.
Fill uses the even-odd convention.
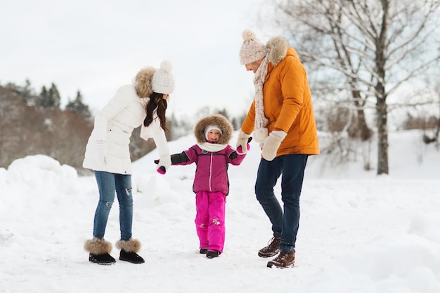
[[[246,152],[252,132],[260,143],[255,194],[273,230],[273,238],[258,255],[271,257],[279,253],[267,266],[289,268],[295,263],[304,169],[309,155],[319,154],[309,82],[297,52],[285,38],[273,37],[264,46],[250,30],[242,32],[242,37],[240,63],[255,74],[255,96],[242,123],[237,147]],[[283,209],[273,193],[281,174]]]

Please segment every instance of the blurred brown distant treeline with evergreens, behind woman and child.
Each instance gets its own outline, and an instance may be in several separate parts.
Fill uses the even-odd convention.
[[[26,80],[24,86],[0,84],[0,167],[7,168],[13,160],[27,155],[48,155],[61,164],[75,167],[79,174],[88,174],[82,168],[87,139],[93,129],[89,105],[84,103],[81,91],[74,100],[60,108],[61,96],[56,84],[42,86],[36,91]],[[200,115],[208,114],[203,109]],[[206,113],[205,113],[206,112]],[[226,110],[217,110],[226,117]],[[229,117],[228,117],[229,119]],[[167,117],[169,141],[190,133],[193,125]],[[239,119],[231,119],[235,128]],[[153,140],[139,137],[140,128],[131,136],[130,152],[134,161],[155,148]]]

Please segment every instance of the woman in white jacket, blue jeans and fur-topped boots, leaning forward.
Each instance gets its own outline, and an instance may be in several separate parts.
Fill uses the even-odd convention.
[[[171,166],[165,111],[167,98],[174,90],[172,64],[164,60],[160,68],[147,67],[136,74],[134,84],[120,87],[115,96],[98,112],[91,136],[86,145],[83,167],[94,171],[98,183],[99,201],[93,221],[93,239],[87,240],[84,249],[93,263],[115,263],[110,255],[111,242],[104,240],[108,215],[115,201],[119,202],[120,249],[119,259],[143,263],[137,252],[141,242],[131,238],[133,223],[133,197],[131,193],[130,136],[142,125],[141,138],[153,138],[160,155],[157,171]]]

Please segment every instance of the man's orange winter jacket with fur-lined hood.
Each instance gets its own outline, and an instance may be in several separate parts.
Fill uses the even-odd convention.
[[[276,41],[269,41],[268,46],[275,44],[271,52],[275,52],[276,56],[269,55],[268,57],[268,74],[264,82],[263,103],[269,133],[273,130],[287,132],[276,156],[319,155],[318,134],[306,70],[297,52],[288,47],[285,39],[281,37],[273,39]],[[279,63],[277,60],[280,60]],[[241,126],[243,132],[251,134],[254,131],[254,119],[255,101],[250,106]]]

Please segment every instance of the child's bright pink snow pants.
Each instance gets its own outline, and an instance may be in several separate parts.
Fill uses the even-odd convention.
[[[200,248],[223,252],[226,232],[225,205],[226,196],[223,193],[196,193],[194,222]]]

